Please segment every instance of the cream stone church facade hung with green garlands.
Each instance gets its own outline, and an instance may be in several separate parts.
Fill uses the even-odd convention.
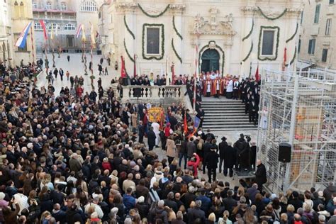
[[[103,4],[103,55],[133,76],[219,70],[240,77],[295,64],[302,0],[128,0]],[[286,62],[284,54],[286,48]],[[164,72],[165,73],[165,72]]]

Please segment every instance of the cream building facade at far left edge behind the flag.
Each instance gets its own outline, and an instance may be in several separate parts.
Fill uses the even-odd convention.
[[[20,65],[21,60],[25,64],[35,61],[33,29],[28,33],[24,48],[15,46],[22,30],[33,20],[31,1],[1,1],[0,17],[0,62],[13,67]]]

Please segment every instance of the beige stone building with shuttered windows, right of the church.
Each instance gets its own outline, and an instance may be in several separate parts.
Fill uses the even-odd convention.
[[[336,1],[306,3],[301,26],[299,59],[336,70]]]

